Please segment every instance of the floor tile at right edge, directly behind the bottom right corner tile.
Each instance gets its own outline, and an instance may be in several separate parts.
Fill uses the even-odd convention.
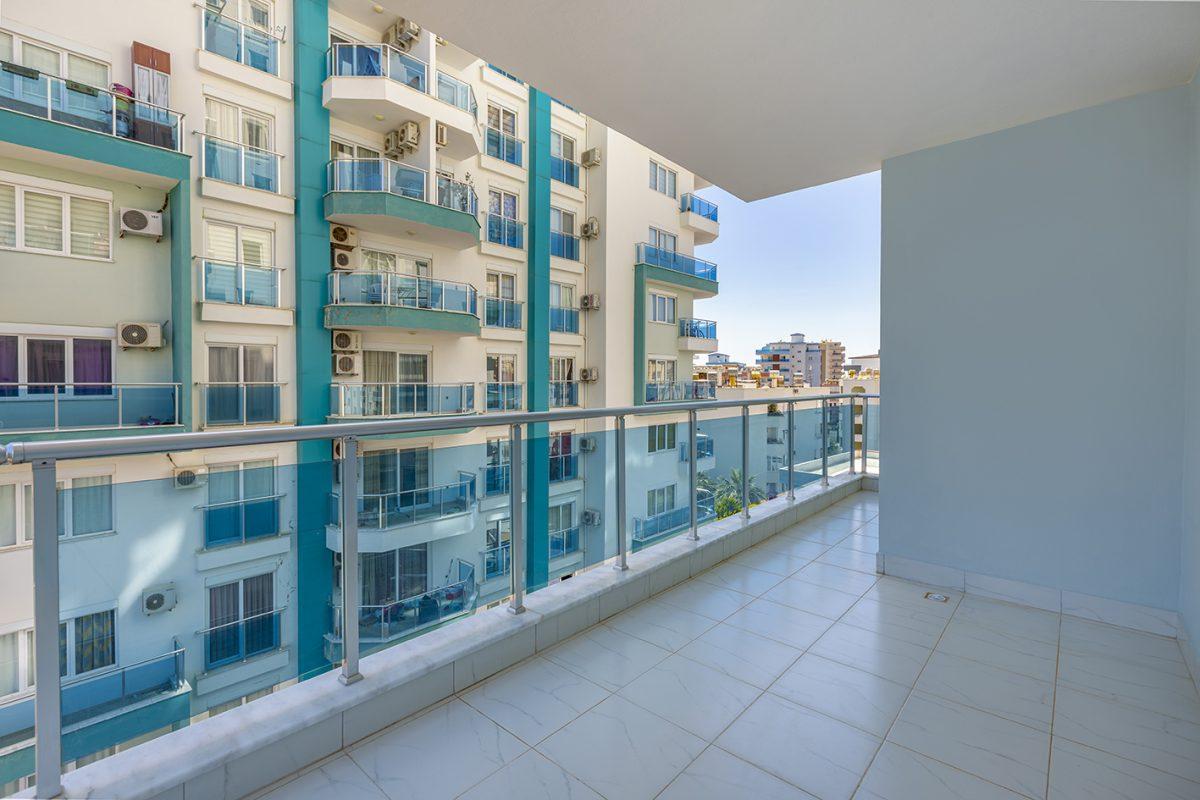
[[[1200,724],[1195,722],[1060,685],[1054,735],[1200,783]]]

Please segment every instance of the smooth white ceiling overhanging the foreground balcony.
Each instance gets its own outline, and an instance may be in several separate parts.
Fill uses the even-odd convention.
[[[1187,83],[1200,4],[378,0],[758,199]]]

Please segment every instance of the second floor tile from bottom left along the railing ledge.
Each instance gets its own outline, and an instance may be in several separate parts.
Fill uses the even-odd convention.
[[[391,800],[440,800],[458,796],[526,750],[455,698],[358,745],[350,757]]]

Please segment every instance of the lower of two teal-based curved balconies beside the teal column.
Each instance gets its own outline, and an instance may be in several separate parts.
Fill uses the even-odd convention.
[[[325,327],[396,327],[478,336],[475,287],[397,272],[329,273]]]

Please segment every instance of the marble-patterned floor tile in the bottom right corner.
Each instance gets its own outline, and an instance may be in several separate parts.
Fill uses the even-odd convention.
[[[1050,800],[1195,800],[1200,783],[1055,736]]]

